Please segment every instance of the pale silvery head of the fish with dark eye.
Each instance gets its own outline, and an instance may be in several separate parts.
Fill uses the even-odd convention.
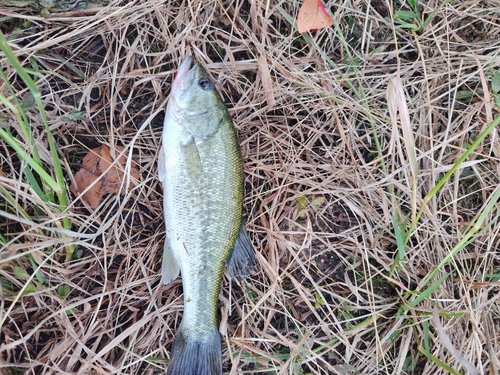
[[[179,66],[167,111],[183,129],[202,139],[214,134],[228,116],[205,68],[192,56]]]

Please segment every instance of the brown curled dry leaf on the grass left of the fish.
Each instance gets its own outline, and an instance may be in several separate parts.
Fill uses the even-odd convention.
[[[116,146],[116,153],[121,153],[124,147]],[[83,158],[82,167],[75,174],[75,185],[71,186],[71,191],[75,195],[82,195],[82,199],[92,208],[97,208],[106,194],[125,194],[122,189],[124,182],[124,170],[127,159],[120,157],[118,162],[114,162],[108,146],[102,145],[89,151]],[[114,162],[114,163],[113,163]],[[131,182],[135,184],[141,177],[137,165],[132,163],[130,169]]]

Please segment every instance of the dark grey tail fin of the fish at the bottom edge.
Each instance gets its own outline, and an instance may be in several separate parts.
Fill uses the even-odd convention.
[[[166,375],[222,375],[222,349],[216,328],[203,338],[177,332]]]

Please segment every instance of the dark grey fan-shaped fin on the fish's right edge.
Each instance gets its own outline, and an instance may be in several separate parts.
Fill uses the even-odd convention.
[[[226,261],[226,268],[231,279],[236,281],[250,276],[255,269],[255,254],[243,223],[241,223],[240,233],[233,252]]]

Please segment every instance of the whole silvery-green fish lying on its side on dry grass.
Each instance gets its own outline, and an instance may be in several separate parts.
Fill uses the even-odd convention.
[[[241,281],[255,268],[243,223],[243,161],[236,129],[205,68],[181,63],[165,111],[158,177],[166,238],[164,284],[182,277],[184,311],[167,375],[222,374],[218,295],[224,267]]]

